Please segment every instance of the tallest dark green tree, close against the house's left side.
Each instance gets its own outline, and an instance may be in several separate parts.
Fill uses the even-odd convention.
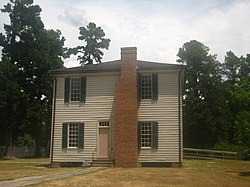
[[[8,64],[5,66],[15,69],[15,75],[12,75],[15,79],[11,76],[6,79],[13,80],[15,92],[22,96],[17,99],[18,94],[6,93],[12,99],[5,101],[12,106],[12,100],[17,105],[15,108],[19,107],[25,113],[18,123],[8,124],[29,130],[36,140],[37,150],[40,150],[42,133],[48,131],[51,118],[52,78],[49,70],[63,67],[61,57],[65,39],[60,31],[44,28],[41,8],[33,5],[33,0],[10,0],[1,11],[10,17],[10,24],[4,25],[5,34],[0,34],[2,59]],[[10,113],[6,110],[4,115]]]

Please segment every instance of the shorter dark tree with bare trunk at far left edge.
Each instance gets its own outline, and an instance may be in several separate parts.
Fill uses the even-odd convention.
[[[25,113],[25,94],[17,80],[17,67],[0,62],[0,124],[4,137],[6,157],[12,157],[12,134],[17,131]]]

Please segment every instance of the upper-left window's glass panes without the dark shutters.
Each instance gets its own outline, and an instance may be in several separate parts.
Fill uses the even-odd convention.
[[[70,79],[70,101],[80,101],[81,84],[80,78]]]

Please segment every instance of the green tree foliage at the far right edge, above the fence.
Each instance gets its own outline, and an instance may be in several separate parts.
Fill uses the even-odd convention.
[[[250,148],[250,55],[237,57],[227,52],[223,74],[232,113],[232,140]]]

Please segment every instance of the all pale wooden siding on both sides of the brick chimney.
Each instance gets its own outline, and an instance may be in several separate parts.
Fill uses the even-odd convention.
[[[143,72],[141,72],[143,73]],[[157,73],[157,72],[155,72]],[[158,150],[143,149],[139,162],[178,162],[178,71],[158,73],[158,101],[141,101],[139,121],[158,121]],[[76,76],[76,75],[73,75]],[[111,152],[115,154],[115,84],[120,74],[86,74],[86,103],[64,103],[64,77],[57,77],[54,162],[83,162],[96,156],[98,120],[110,120]],[[70,76],[69,76],[70,77]],[[72,76],[71,76],[72,77]],[[62,150],[62,123],[84,122],[84,150]],[[182,129],[181,129],[182,132]],[[182,138],[182,134],[181,134]],[[182,144],[182,142],[181,142]],[[182,148],[182,147],[181,147]]]

